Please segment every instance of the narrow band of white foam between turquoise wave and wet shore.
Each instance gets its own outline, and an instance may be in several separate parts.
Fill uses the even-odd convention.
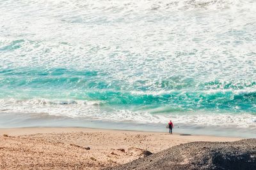
[[[150,113],[148,111],[117,110],[102,108],[99,101],[49,101],[46,99],[0,100],[0,112],[4,113],[47,113],[62,117],[83,117],[112,122],[134,122],[166,124],[171,118],[177,125],[198,125],[207,127],[238,127],[256,129],[256,115],[250,113],[211,113],[188,111],[172,113]],[[65,103],[65,104],[63,104]],[[69,103],[69,104],[66,104]],[[161,110],[161,109],[160,109]],[[151,110],[152,111],[152,110]],[[44,114],[42,114],[44,116]]]

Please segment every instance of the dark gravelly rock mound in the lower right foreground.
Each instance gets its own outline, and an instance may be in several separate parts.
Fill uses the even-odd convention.
[[[110,169],[256,169],[256,139],[186,143]]]

